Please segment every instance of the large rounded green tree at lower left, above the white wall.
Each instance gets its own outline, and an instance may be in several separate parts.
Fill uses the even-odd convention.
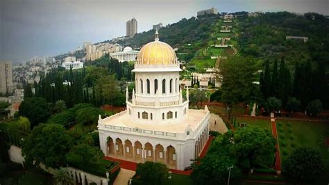
[[[60,124],[39,124],[33,128],[22,145],[22,155],[31,165],[44,163],[47,167],[64,166],[65,155],[73,147],[73,142]]]

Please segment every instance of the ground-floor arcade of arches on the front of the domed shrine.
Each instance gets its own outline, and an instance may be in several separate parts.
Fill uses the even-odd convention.
[[[134,162],[153,161],[166,164],[169,168],[176,169],[176,150],[173,146],[163,145],[153,146],[151,143],[142,144],[140,141],[132,143],[130,140],[113,140],[108,137],[107,155],[119,159],[125,159]]]

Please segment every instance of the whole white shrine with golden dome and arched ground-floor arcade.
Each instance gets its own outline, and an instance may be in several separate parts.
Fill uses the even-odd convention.
[[[174,49],[158,40],[142,47],[135,62],[135,84],[126,90],[126,111],[99,118],[99,140],[106,156],[127,161],[154,161],[185,170],[209,137],[210,113],[190,110],[183,99],[180,67]]]

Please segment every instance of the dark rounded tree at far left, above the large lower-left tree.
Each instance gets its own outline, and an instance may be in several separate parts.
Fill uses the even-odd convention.
[[[30,120],[31,129],[40,122],[46,122],[50,117],[50,111],[46,99],[41,97],[30,97],[24,99],[19,106],[19,114]]]

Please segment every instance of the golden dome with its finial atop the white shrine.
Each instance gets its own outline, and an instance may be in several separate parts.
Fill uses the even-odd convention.
[[[165,42],[160,42],[158,30],[155,31],[155,41],[149,42],[137,56],[137,64],[140,65],[171,65],[177,64],[174,49]]]

